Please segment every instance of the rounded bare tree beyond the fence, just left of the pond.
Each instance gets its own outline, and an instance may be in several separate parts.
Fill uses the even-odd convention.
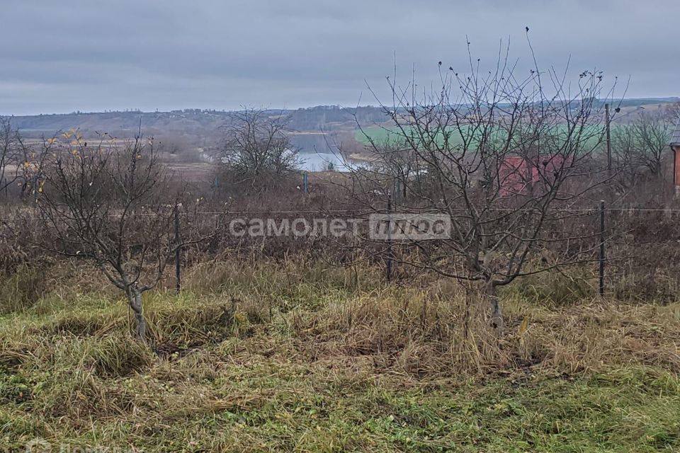
[[[297,168],[297,149],[288,136],[288,117],[265,110],[234,113],[225,125],[218,161],[237,179],[259,185]]]

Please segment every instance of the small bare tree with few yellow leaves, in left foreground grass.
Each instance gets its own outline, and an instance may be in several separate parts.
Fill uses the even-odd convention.
[[[141,134],[122,149],[104,140],[89,145],[77,132],[66,138],[50,154],[38,197],[55,240],[43,246],[94,263],[125,293],[137,336],[146,340],[142,294],[158,284],[182,246],[171,233],[168,175],[153,139]]]

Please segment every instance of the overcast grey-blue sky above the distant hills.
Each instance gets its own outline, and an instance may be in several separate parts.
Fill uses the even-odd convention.
[[[0,114],[374,104],[385,76],[421,84],[499,40],[541,66],[630,76],[679,96],[678,0],[3,0]],[[460,69],[464,71],[464,69]]]

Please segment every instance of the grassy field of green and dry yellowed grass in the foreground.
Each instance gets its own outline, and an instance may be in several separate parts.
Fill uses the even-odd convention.
[[[7,451],[680,449],[679,304],[548,306],[511,288],[497,340],[483,322],[465,336],[453,282],[225,260],[189,270],[179,297],[147,294],[152,350],[92,271],[38,279],[0,282]]]

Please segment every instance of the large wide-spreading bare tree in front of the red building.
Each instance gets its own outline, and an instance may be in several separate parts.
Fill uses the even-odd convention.
[[[501,331],[498,287],[584,259],[565,253],[533,260],[545,244],[566,239],[562,222],[597,184],[591,176],[603,136],[597,101],[603,74],[582,71],[570,84],[567,71],[535,66],[521,73],[509,62],[508,50],[499,55],[488,73],[472,57],[467,74],[447,71],[440,62],[441,83],[431,91],[414,81],[398,86],[396,77],[388,77],[393,102],[381,105],[395,125],[394,140],[388,147],[370,141],[380,164],[353,173],[353,196],[370,211],[385,212],[385,197],[379,195],[389,194],[397,177],[407,195],[400,212],[445,215],[450,237],[409,238],[403,245],[410,253],[399,260],[481,282],[492,326]],[[395,156],[409,163],[409,176],[385,172]],[[392,248],[382,252],[391,254]]]

